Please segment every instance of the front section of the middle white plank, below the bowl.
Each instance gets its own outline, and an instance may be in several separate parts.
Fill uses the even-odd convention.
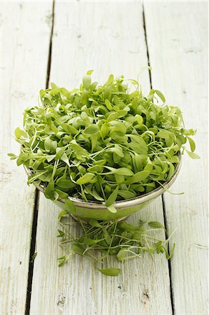
[[[30,314],[172,314],[164,255],[154,259],[146,255],[124,265],[108,258],[104,267],[122,267],[117,278],[101,275],[78,255],[57,267],[57,258],[63,255],[56,238],[59,211],[41,194]],[[136,224],[139,219],[163,223],[161,199],[131,216],[129,222]],[[75,234],[75,229],[71,231]],[[164,238],[163,232],[159,235]]]

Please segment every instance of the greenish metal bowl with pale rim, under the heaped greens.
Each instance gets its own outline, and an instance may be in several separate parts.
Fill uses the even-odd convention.
[[[134,212],[138,211],[139,209],[145,207],[147,204],[150,204],[153,200],[155,200],[157,197],[162,195],[166,190],[168,190],[169,187],[174,183],[176,177],[178,176],[178,173],[180,172],[180,167],[182,165],[182,158],[179,154],[180,162],[175,167],[175,172],[171,176],[171,179],[166,181],[163,186],[159,186],[158,188],[152,190],[150,193],[146,193],[144,195],[140,195],[138,197],[135,197],[133,199],[129,200],[122,200],[117,201],[114,204],[115,209],[117,209],[117,212],[115,214],[108,211],[106,208],[104,202],[85,202],[83,200],[69,197],[69,200],[71,200],[75,207],[73,209],[71,207],[66,207],[66,204],[62,198],[58,198],[57,201],[55,201],[55,204],[57,204],[58,207],[66,210],[75,218],[82,218],[84,220],[88,220],[90,218],[94,218],[96,220],[115,220],[119,218],[126,218],[130,214],[134,214]],[[30,174],[30,170],[25,167],[25,170],[27,174]],[[40,190],[42,193],[45,191],[45,187],[42,185],[36,185],[36,188]]]

